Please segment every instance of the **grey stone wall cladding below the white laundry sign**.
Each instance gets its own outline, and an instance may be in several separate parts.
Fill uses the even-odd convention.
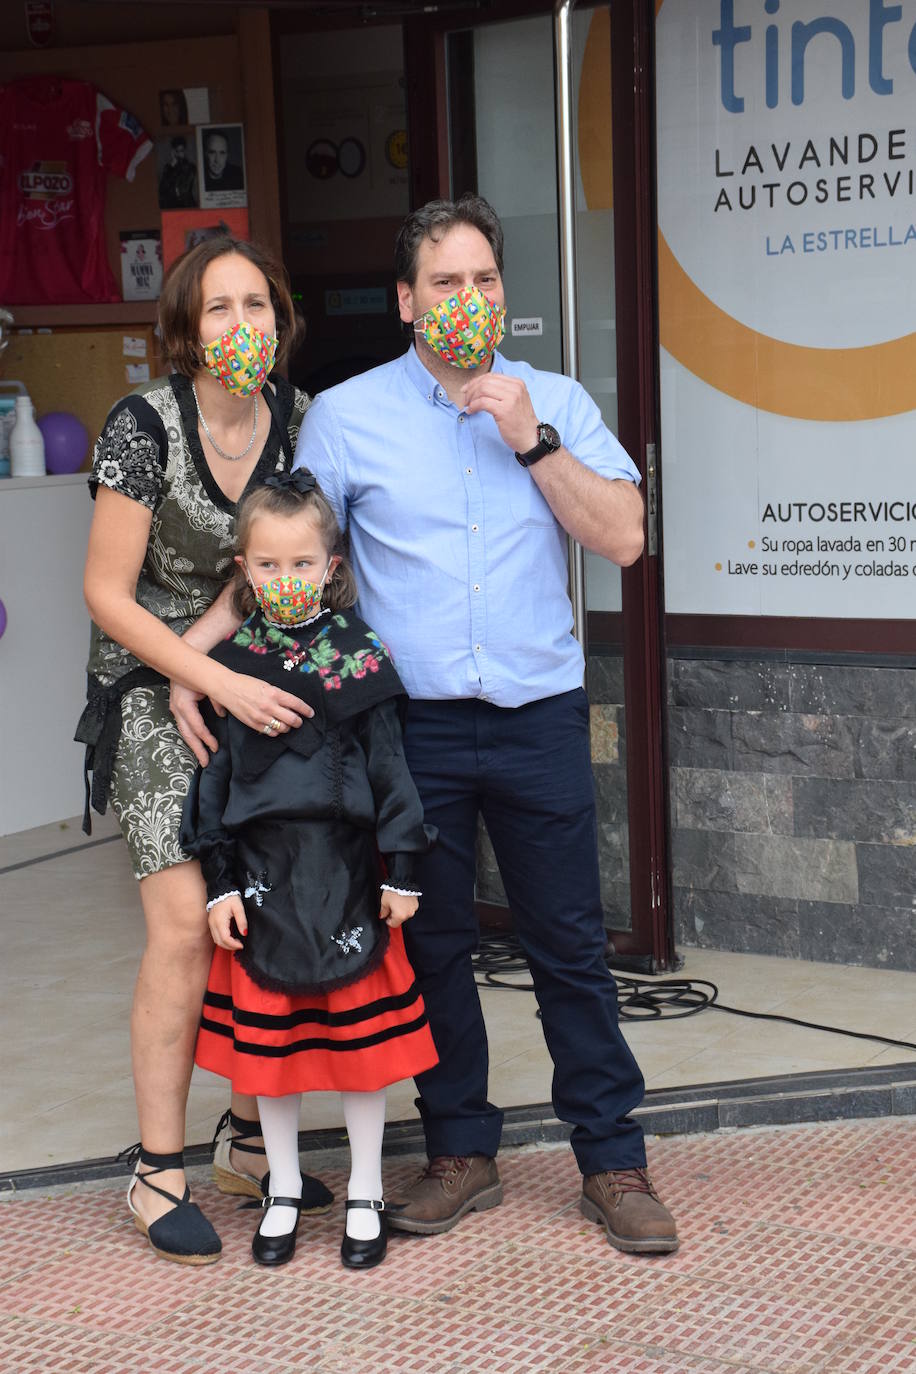
[[[916,969],[916,669],[672,657],[667,725],[678,944]]]

